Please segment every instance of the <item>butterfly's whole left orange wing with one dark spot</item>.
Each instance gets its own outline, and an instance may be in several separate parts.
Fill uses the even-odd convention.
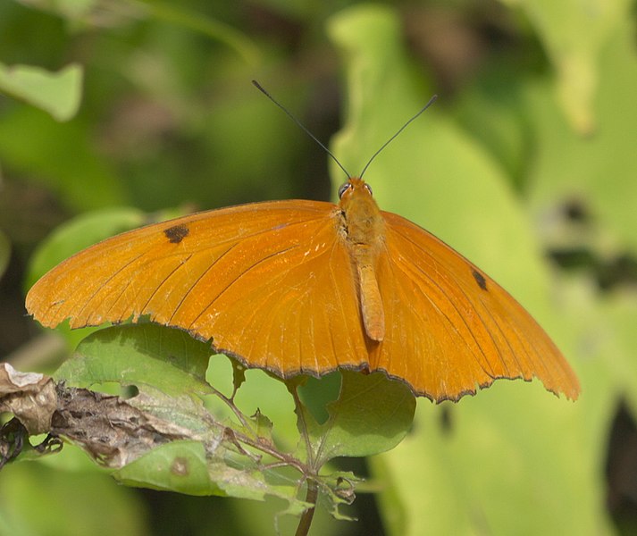
[[[48,272],[27,309],[72,328],[147,314],[282,376],[358,368],[365,338],[338,214],[277,201],[132,230]]]

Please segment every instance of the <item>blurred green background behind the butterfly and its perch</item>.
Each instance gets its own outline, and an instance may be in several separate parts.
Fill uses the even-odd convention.
[[[520,299],[583,393],[421,400],[398,448],[343,463],[373,492],[359,521],[311,533],[637,533],[636,36],[623,0],[4,0],[0,360],[71,351],[23,307],[63,222],[83,216],[77,243],[43,264],[167,215],[334,197],[342,172],[251,79],[352,173],[436,93],[365,179]],[[14,536],[266,534],[280,508],[127,489],[72,448],[0,473]]]

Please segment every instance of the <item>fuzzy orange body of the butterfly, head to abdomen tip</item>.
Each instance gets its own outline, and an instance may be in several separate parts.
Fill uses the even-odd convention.
[[[339,207],[341,232],[357,276],[365,333],[380,342],[385,336],[385,318],[376,263],[385,239],[385,222],[371,188],[362,179],[349,179],[341,188]]]

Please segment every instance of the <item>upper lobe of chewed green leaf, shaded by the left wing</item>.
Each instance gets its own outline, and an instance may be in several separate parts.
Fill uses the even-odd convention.
[[[112,382],[135,386],[139,395],[128,400],[131,406],[218,441],[224,425],[208,420],[202,400],[214,395],[205,381],[211,354],[209,345],[185,331],[155,324],[114,326],[83,339],[54,379],[87,389]]]

